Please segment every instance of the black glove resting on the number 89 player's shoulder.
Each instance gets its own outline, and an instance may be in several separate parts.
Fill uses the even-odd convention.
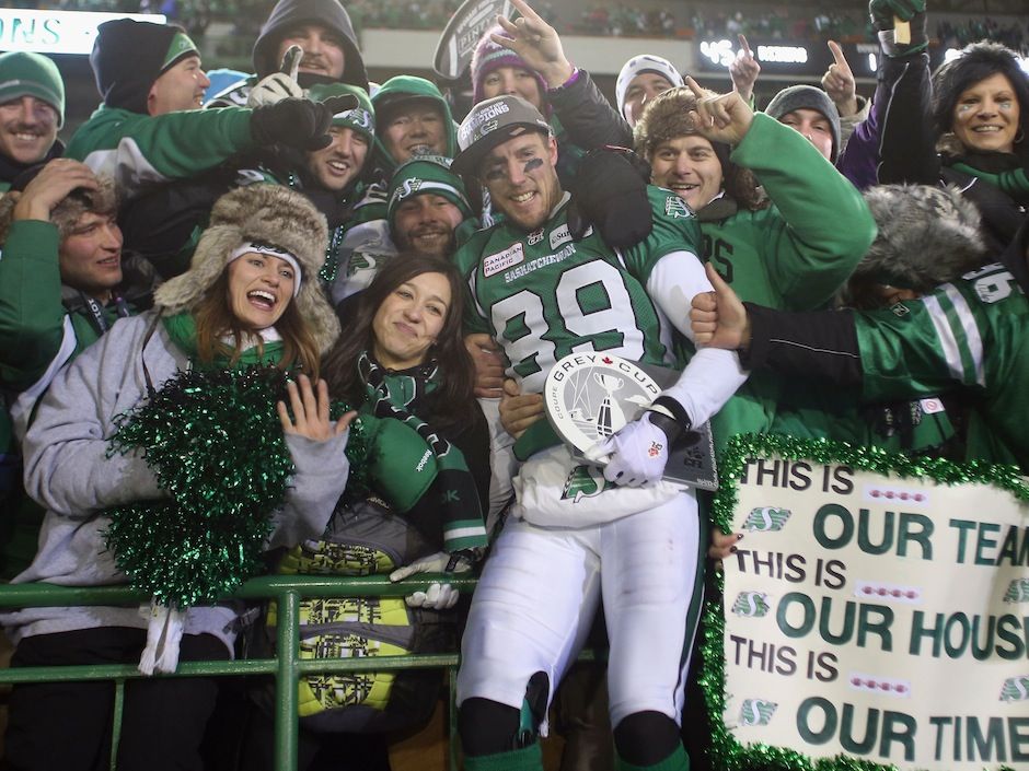
[[[650,166],[624,148],[590,151],[571,182],[568,232],[579,240],[590,225],[608,246],[625,249],[650,235],[654,215],[647,197]]]

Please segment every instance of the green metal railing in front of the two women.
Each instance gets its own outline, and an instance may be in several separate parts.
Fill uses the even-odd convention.
[[[298,680],[317,673],[374,671],[383,669],[446,668],[450,676],[450,725],[455,723],[453,701],[454,671],[458,653],[408,654],[404,656],[370,656],[367,658],[300,659],[300,600],[307,597],[400,597],[425,591],[433,581],[443,580],[461,592],[475,588],[474,577],[454,575],[418,576],[418,581],[390,583],[385,576],[263,576],[247,581],[235,599],[274,599],[278,604],[276,626],[276,658],[242,659],[232,662],[182,662],[174,675],[154,677],[212,677],[240,675],[271,675],[275,678],[275,768],[279,771],[297,769],[297,734],[299,731]],[[53,584],[9,584],[0,586],[0,608],[54,607],[80,605],[139,605],[150,597],[127,586],[70,588]],[[112,734],[111,769],[115,771],[117,748],[125,703],[125,681],[146,677],[131,664],[19,667],[0,669],[0,684],[57,682],[74,680],[113,680],[115,686],[114,728]],[[456,747],[450,741],[450,768],[458,768]]]

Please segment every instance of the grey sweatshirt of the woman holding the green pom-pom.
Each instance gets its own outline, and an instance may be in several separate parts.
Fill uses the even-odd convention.
[[[39,549],[12,583],[46,581],[62,586],[125,584],[102,533],[109,506],[165,495],[138,453],[107,457],[117,430],[114,418],[147,393],[143,360],[160,388],[188,359],[158,324],[143,348],[150,312],[118,320],[54,379],[25,437],[25,489],[46,510]],[[349,464],[344,449],[349,432],[325,442],[287,435],[296,474],[275,515],[269,547],[294,546],[320,536],[346,487]],[[190,608],[186,634],[213,634],[231,653],[238,608],[231,604]],[[97,627],[147,628],[138,607],[27,608],[0,614],[16,643],[33,634]]]

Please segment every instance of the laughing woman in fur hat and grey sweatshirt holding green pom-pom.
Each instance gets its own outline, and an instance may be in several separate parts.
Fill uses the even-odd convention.
[[[233,190],[215,203],[190,270],[160,288],[154,309],[118,320],[56,376],[23,447],[26,491],[47,509],[39,551],[14,583],[131,580],[155,599],[142,615],[138,607],[3,614],[13,666],[139,662],[151,674],[173,671],[180,658],[232,655],[240,608],[189,606],[231,589],[262,549],[320,536],[348,476],[354,413],[331,420],[326,385],[313,384],[320,353],[338,332],[315,279],[325,246],[324,218],[300,194]],[[246,401],[257,386],[275,394],[284,371],[296,383],[282,400]],[[184,377],[192,388],[181,387]],[[198,408],[183,411],[187,399]],[[158,439],[127,442],[140,425]],[[177,454],[166,455],[169,441]],[[160,457],[194,469],[189,482],[169,483]],[[268,477],[279,487],[268,488]],[[217,493],[198,507],[196,488]],[[209,576],[226,571],[234,577],[212,588]],[[208,583],[190,583],[194,575]],[[199,768],[216,696],[203,677],[127,684],[118,767]],[[41,768],[43,755],[67,769],[109,764],[113,700],[107,686],[15,687],[5,760],[26,769]],[[59,727],[68,725],[71,736]]]

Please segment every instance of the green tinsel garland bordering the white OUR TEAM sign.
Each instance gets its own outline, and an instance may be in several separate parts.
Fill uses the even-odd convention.
[[[1007,490],[1020,501],[1029,501],[1029,484],[1016,466],[997,466],[981,460],[956,464],[941,458],[909,457],[879,447],[855,447],[845,442],[806,440],[777,434],[741,434],[729,440],[719,463],[721,483],[715,495],[712,518],[729,533],[737,504],[737,484],[748,460],[778,456],[785,460],[813,460],[842,464],[863,471],[900,477],[933,479],[943,484],[978,482]],[[716,576],[719,596],[725,579]],[[712,725],[712,760],[727,771],[897,771],[892,764],[859,760],[843,755],[813,759],[786,747],[764,744],[742,745],[726,728],[725,671],[726,622],[720,600],[709,601],[704,612],[701,689],[707,702]],[[1010,771],[1010,767],[1001,767]]]

